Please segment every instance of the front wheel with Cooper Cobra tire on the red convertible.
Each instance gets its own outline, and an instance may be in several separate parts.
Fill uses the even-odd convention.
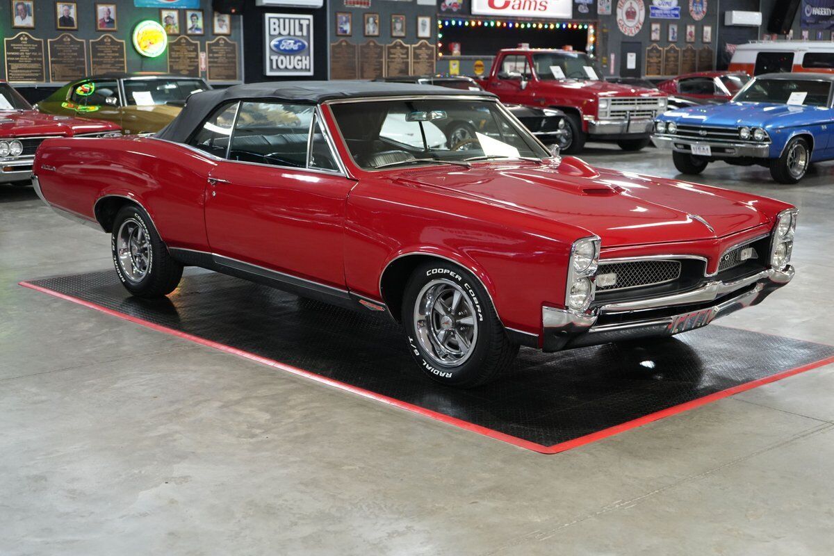
[[[513,363],[510,341],[490,296],[469,272],[445,261],[425,263],[405,286],[403,323],[414,360],[430,378],[473,388]]]

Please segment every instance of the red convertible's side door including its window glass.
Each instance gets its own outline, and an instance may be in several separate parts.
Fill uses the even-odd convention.
[[[208,178],[212,253],[233,266],[343,288],[344,214],[354,183],[339,169],[313,105],[244,101],[227,159]]]

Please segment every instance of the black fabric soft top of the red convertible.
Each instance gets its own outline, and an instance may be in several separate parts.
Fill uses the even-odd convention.
[[[339,98],[400,97],[414,95],[477,95],[495,98],[485,91],[463,91],[434,85],[413,83],[379,83],[372,81],[274,81],[234,85],[225,89],[202,91],[188,97],[177,118],[156,137],[185,142],[199,124],[219,104],[231,100],[277,100],[292,103],[318,104]]]

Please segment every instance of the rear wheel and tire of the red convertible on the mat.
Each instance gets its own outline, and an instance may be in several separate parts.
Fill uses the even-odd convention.
[[[183,276],[183,265],[171,258],[151,219],[136,205],[116,213],[110,248],[118,279],[140,298],[168,295]]]

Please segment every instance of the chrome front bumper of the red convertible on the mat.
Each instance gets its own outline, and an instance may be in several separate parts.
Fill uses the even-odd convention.
[[[545,351],[557,351],[626,339],[671,336],[700,328],[716,318],[761,303],[777,288],[790,282],[793,275],[794,269],[791,266],[782,270],[768,268],[733,282],[715,280],[689,292],[610,303],[588,313],[544,307],[541,312],[543,348]],[[678,307],[680,311],[674,310]],[[646,316],[650,312],[656,315],[659,309],[670,310],[661,317]],[[600,318],[606,315],[623,318],[615,323],[598,324]]]

